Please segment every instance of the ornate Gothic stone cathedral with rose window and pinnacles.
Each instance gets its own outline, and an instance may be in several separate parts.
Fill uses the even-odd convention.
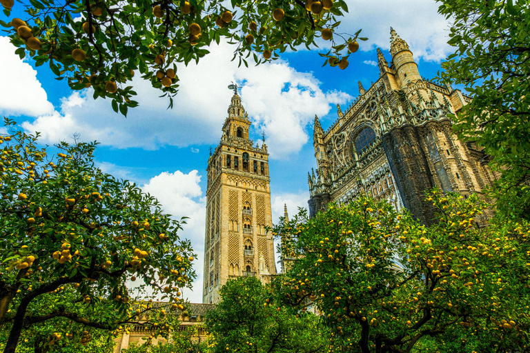
[[[360,193],[387,199],[430,224],[433,209],[424,190],[438,186],[464,196],[491,185],[488,159],[473,142],[458,141],[448,114],[470,99],[423,79],[409,45],[391,28],[392,61],[380,49],[380,77],[324,131],[315,117],[317,170],[308,175],[310,215],[331,201],[346,203]]]

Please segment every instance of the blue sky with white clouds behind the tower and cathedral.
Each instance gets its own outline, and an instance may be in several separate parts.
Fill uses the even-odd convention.
[[[253,121],[251,138],[256,143],[262,132],[267,136],[276,221],[284,203],[291,214],[307,206],[307,172],[315,167],[315,114],[328,128],[337,118],[337,103],[345,110],[359,94],[358,81],[368,89],[377,80],[375,48],[382,48],[391,61],[390,26],[409,43],[423,77],[435,77],[440,61],[451,53],[446,44],[449,23],[437,13],[433,0],[346,2],[350,14],[340,28],[347,33],[362,28],[362,35],[369,37],[351,55],[346,70],[322,68],[324,59],[317,50],[324,51],[327,42],[318,43],[322,48],[284,53],[279,61],[239,69],[230,62],[234,48],[221,43],[198,65],[179,67],[181,88],[173,110],[166,110],[168,101],[160,99],[150,83],[135,79],[140,106],[129,110],[127,118],[113,112],[110,101],[94,101],[90,89],[70,91],[46,65],[35,68],[28,59],[20,61],[0,32],[0,114],[28,132],[41,132],[41,141],[50,145],[72,141],[75,132],[81,140],[99,141],[95,156],[101,169],[135,181],[175,218],[190,216],[181,236],[192,240],[199,259],[197,290],[186,294],[190,301],[200,302],[206,163],[210,146],[215,147],[222,134],[233,94],[227,88],[231,81],[240,85],[242,103]],[[22,16],[18,12],[12,17]],[[4,14],[0,19],[10,21]]]

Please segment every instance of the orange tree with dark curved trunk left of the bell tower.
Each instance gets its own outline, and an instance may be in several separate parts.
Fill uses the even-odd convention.
[[[22,330],[50,319],[109,331],[137,321],[150,307],[132,312],[128,280],[142,283],[139,292],[149,289],[182,305],[180,288],[195,278],[195,255],[177,236],[181,222],[133,183],[95,168],[95,143],[61,143],[55,157],[37,148],[37,137],[10,128],[0,139],[4,352],[15,351]],[[165,334],[157,321],[164,317],[144,325]],[[86,343],[90,337],[81,333],[50,341]]]

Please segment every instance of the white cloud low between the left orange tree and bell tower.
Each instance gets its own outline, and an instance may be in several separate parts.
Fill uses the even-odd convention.
[[[184,296],[192,303],[202,303],[202,272],[204,267],[204,219],[206,219],[206,198],[202,197],[199,186],[201,176],[197,170],[184,174],[177,170],[174,173],[163,172],[149,180],[141,189],[155,196],[161,203],[164,212],[179,220],[189,217],[184,230],[179,232],[180,239],[189,239],[197,259],[193,268],[197,279],[193,290],[184,290]]]

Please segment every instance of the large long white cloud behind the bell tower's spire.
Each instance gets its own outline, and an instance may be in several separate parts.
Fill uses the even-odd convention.
[[[115,148],[155,150],[161,145],[217,143],[233,94],[226,86],[237,80],[245,82],[243,103],[257,131],[268,135],[271,157],[284,158],[306,143],[306,125],[315,114],[325,115],[330,104],[351,99],[342,92],[322,92],[312,74],[297,72],[284,61],[237,68],[237,62],[230,61],[234,48],[214,44],[198,65],[179,66],[181,89],[173,110],[166,109],[168,100],[159,98],[159,90],[137,75],[133,84],[140,106],[130,109],[127,118],[113,112],[108,100],[93,100],[88,89],[73,92],[59,110],[23,123],[23,128],[41,132],[48,143],[75,132],[84,141],[97,140]]]

